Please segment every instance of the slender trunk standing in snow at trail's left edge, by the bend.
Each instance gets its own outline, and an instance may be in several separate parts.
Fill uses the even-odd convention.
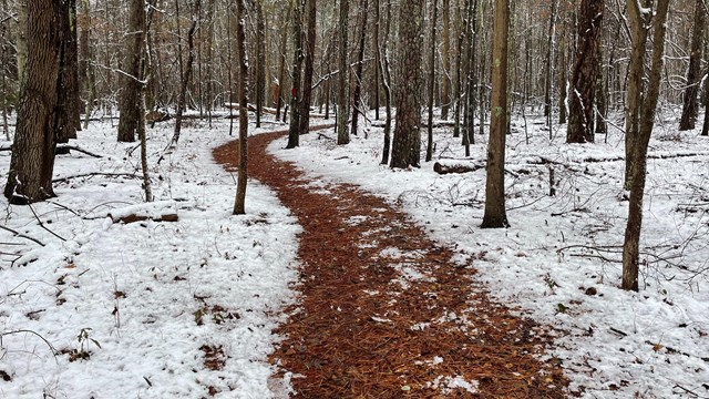
[[[239,58],[239,171],[234,201],[234,215],[244,215],[246,183],[248,171],[248,61],[246,59],[246,7],[244,0],[237,0],[236,52]]]

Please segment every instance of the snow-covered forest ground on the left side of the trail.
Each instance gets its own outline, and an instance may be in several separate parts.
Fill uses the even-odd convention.
[[[266,357],[295,300],[300,227],[255,182],[233,216],[234,176],[212,158],[228,122],[186,124],[160,165],[173,124],[148,130],[151,209],[140,177],[71,177],[140,176],[140,150],[109,122],[72,143],[101,158],[58,156],[56,198],[0,200],[0,225],[32,238],[0,231],[0,398],[271,396]],[[9,162],[0,152],[2,185]],[[165,209],[178,221],[109,217]]]

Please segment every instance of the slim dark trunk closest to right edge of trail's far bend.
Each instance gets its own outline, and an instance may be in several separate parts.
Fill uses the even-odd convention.
[[[295,149],[300,145],[300,102],[302,101],[302,92],[300,85],[302,81],[302,61],[305,54],[302,51],[302,1],[292,0],[292,73],[290,81],[292,88],[290,90],[290,129],[288,130],[288,144],[286,149]]]

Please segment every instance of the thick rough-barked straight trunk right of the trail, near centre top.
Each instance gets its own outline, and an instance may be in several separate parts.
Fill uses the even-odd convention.
[[[391,167],[420,166],[423,0],[399,6],[399,84]]]

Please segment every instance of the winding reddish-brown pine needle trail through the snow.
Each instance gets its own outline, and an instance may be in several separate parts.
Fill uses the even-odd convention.
[[[280,133],[249,139],[249,176],[276,191],[304,232],[302,295],[271,356],[301,398],[563,398],[543,364],[549,338],[492,301],[474,265],[353,185],[326,184],[266,153]],[[284,144],[285,145],[285,144]],[[237,160],[237,143],[215,150]]]

